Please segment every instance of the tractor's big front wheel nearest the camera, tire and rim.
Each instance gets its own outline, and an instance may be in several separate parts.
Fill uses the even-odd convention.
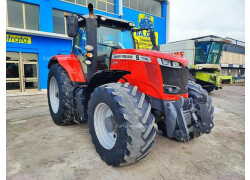
[[[134,163],[154,145],[151,105],[129,83],[97,87],[88,103],[88,121],[96,151],[108,165]]]

